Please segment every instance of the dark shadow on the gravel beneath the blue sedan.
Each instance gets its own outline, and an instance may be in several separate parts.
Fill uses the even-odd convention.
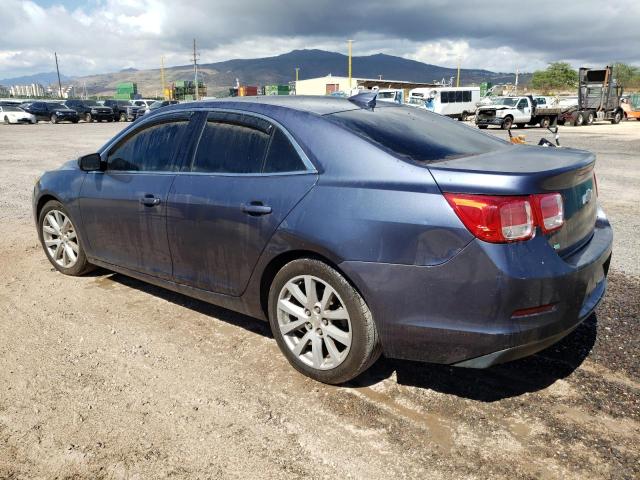
[[[187,297],[118,273],[100,270],[113,282],[160,297],[195,312],[273,338],[267,322]],[[346,388],[374,385],[395,372],[400,385],[434,390],[471,400],[494,402],[542,390],[569,376],[589,355],[596,341],[597,318],[591,315],[576,330],[555,345],[527,358],[487,369],[450,367],[381,357]]]

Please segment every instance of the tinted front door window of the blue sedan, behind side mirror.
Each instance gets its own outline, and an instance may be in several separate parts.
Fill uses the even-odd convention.
[[[109,152],[109,170],[176,170],[175,153],[187,130],[187,120],[147,127]]]

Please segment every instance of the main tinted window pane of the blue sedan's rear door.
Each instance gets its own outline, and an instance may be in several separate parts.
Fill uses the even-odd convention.
[[[211,115],[202,132],[192,170],[260,173],[269,138],[268,122],[245,115]]]

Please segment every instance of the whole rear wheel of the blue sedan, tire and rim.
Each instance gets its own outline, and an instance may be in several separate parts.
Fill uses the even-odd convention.
[[[380,356],[364,299],[319,260],[293,260],[277,273],[269,291],[269,322],[289,363],[320,382],[349,381]]]

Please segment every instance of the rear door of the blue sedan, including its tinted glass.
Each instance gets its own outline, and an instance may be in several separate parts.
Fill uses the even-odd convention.
[[[169,194],[175,281],[241,295],[267,242],[316,178],[278,125],[247,114],[209,113],[193,160]]]

